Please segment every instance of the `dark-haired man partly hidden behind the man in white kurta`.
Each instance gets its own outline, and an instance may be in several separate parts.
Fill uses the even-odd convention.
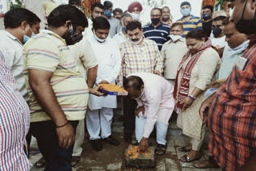
[[[105,7],[101,3],[95,2],[90,7],[90,11],[91,11],[91,18],[88,19],[88,27],[82,33],[83,36],[85,36],[87,39],[94,35],[93,32],[91,31],[91,29],[93,28],[94,18],[105,16],[105,14],[104,14]]]

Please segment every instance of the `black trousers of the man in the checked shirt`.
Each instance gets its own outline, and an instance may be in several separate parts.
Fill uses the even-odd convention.
[[[123,97],[123,125],[124,133],[134,133],[135,129],[135,109],[137,108],[137,101],[130,99],[130,97]]]

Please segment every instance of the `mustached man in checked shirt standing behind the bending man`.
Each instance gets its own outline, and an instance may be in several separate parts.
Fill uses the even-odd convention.
[[[122,86],[123,79],[135,72],[154,73],[161,75],[163,63],[157,44],[143,37],[142,24],[140,22],[130,22],[126,26],[129,41],[122,43],[120,47],[122,55],[122,68],[118,75],[118,85]],[[123,98],[124,104],[124,139],[131,141],[134,131],[134,112],[137,102],[128,98]]]

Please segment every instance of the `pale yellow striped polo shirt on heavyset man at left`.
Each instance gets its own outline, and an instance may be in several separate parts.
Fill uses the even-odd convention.
[[[47,121],[50,117],[34,97],[29,84],[28,69],[52,72],[50,85],[67,120],[84,119],[89,97],[88,87],[78,71],[76,60],[70,57],[69,52],[70,49],[66,46],[65,40],[49,30],[42,30],[25,44],[24,75],[26,89],[30,96],[31,122]]]

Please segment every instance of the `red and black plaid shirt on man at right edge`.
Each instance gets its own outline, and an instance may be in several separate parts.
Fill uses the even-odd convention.
[[[234,66],[209,110],[209,153],[226,171],[245,165],[256,148],[255,38],[256,34],[242,55],[246,66]]]

